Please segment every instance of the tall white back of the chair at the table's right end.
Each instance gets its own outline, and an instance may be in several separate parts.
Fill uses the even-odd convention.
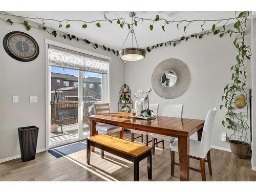
[[[216,108],[214,110],[209,110],[205,118],[204,129],[201,138],[201,150],[203,150],[204,155],[206,155],[210,150],[211,131],[216,112]]]

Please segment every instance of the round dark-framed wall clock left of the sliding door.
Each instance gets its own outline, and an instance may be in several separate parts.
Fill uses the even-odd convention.
[[[35,39],[24,32],[8,33],[4,37],[3,46],[8,55],[23,62],[32,61],[39,54],[39,47]]]

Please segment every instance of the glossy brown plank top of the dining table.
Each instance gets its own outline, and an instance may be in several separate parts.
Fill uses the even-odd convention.
[[[186,119],[157,116],[153,120],[142,120],[129,117],[130,113],[111,113],[102,115],[92,115],[89,119],[96,122],[113,124],[124,128],[156,133],[166,136],[190,136],[200,130],[204,125],[204,120]]]

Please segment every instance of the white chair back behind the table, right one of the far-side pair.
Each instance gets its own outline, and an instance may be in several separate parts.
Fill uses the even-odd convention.
[[[182,118],[183,104],[164,104],[162,116]]]

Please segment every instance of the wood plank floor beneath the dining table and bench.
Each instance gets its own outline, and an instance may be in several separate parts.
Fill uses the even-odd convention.
[[[125,131],[124,138],[131,138]],[[139,139],[136,139],[140,141]],[[161,144],[159,144],[161,147]],[[170,176],[170,150],[165,143],[165,150],[156,148],[153,155],[152,181],[179,181],[179,167],[175,166],[174,177]],[[178,154],[175,154],[178,162]],[[212,176],[206,166],[207,181],[256,181],[256,172],[251,170],[250,158],[245,160],[231,156],[231,153],[211,150]],[[140,181],[147,180],[146,159],[140,162]],[[198,160],[190,159],[190,166],[200,168]],[[190,170],[190,181],[201,181],[201,174]],[[109,153],[100,158],[96,148],[91,153],[91,165],[86,164],[86,150],[66,157],[55,158],[48,152],[36,155],[36,159],[22,162],[20,159],[0,164],[0,181],[133,181],[133,163]]]

